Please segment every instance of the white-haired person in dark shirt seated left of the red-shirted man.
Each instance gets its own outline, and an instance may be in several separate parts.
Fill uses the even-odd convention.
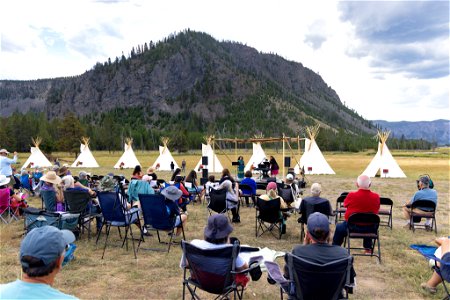
[[[306,197],[300,203],[300,218],[299,223],[307,224],[308,217],[311,213],[315,211],[320,211],[326,216],[331,216],[333,214],[333,209],[331,207],[330,201],[325,198],[321,198],[322,186],[320,183],[313,183],[311,185],[311,197]]]

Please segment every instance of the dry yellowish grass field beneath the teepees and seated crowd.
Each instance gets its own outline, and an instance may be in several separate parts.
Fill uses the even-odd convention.
[[[442,286],[435,296],[423,292],[420,283],[431,275],[428,262],[418,252],[409,249],[412,243],[433,244],[436,236],[449,235],[449,149],[441,149],[438,153],[393,152],[399,165],[408,178],[372,180],[372,190],[382,196],[394,200],[394,228],[381,227],[382,264],[376,258],[355,257],[357,287],[351,299],[441,299],[444,296]],[[282,161],[281,153],[266,151],[273,154],[278,162]],[[144,168],[156,159],[156,152],[136,152]],[[251,156],[251,151],[244,154],[244,160]],[[337,196],[342,191],[354,189],[356,177],[364,170],[373,157],[371,153],[324,153],[329,164],[335,170],[333,176],[308,176],[308,186],[319,182],[324,189],[322,196],[330,199],[334,205]],[[72,162],[73,157],[59,153],[61,159]],[[113,171],[115,174],[131,175],[131,170],[113,170],[121,153],[94,152],[101,167],[87,170],[92,174],[105,174]],[[181,164],[183,158],[187,161],[187,169],[193,168],[200,159],[200,152],[189,154],[173,154]],[[227,153],[234,157],[233,153]],[[21,156],[25,161],[28,154]],[[225,167],[231,167],[224,154],[219,159]],[[111,167],[106,167],[111,166]],[[230,168],[233,170],[232,168]],[[81,170],[81,169],[80,169]],[[78,170],[72,169],[76,174]],[[234,173],[234,172],[233,172]],[[416,230],[412,233],[403,228],[401,205],[416,191],[415,180],[420,174],[427,173],[435,183],[439,195],[438,234]],[[169,173],[161,172],[159,176],[168,178]],[[305,195],[308,195],[308,189]],[[39,199],[30,199],[32,206],[40,207]],[[190,206],[189,220],[186,228],[188,240],[202,238],[203,228],[207,219],[206,207],[202,204]],[[293,216],[287,223],[287,234],[280,240],[270,235],[255,238],[255,211],[252,208],[241,209],[241,223],[235,225],[234,236],[242,243],[258,247],[268,247],[279,251],[291,251],[294,245],[300,243],[297,217]],[[334,230],[334,225],[331,225]],[[23,233],[23,221],[9,225],[0,225],[0,282],[9,282],[20,277],[18,249]],[[64,267],[57,277],[56,288],[73,294],[82,299],[180,299],[182,296],[182,270],[179,268],[181,257],[180,247],[174,246],[170,253],[141,250],[138,259],[133,258],[131,249],[127,252],[118,245],[118,233],[111,231],[111,244],[106,250],[105,258],[101,259],[103,238],[99,245],[95,239],[88,240],[83,236],[77,241],[76,259]],[[156,241],[155,241],[156,240]],[[116,246],[114,246],[116,245]],[[159,246],[156,237],[146,238],[143,247]],[[277,259],[283,263],[282,259]],[[324,283],[325,285],[326,283]],[[269,285],[266,275],[257,282],[251,282],[245,292],[245,298],[277,299],[279,290]],[[212,298],[204,295],[204,298]]]

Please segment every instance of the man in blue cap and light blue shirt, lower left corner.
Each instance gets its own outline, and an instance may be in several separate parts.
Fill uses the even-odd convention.
[[[1,298],[77,299],[52,287],[56,275],[62,270],[66,246],[73,241],[75,236],[69,230],[53,226],[31,230],[20,244],[22,279],[1,284]]]

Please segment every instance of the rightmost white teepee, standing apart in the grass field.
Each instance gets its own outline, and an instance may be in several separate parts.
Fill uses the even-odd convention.
[[[378,142],[378,151],[375,154],[375,157],[372,159],[370,164],[364,170],[363,174],[375,177],[377,174],[380,177],[391,177],[391,178],[405,178],[406,175],[403,173],[400,166],[395,161],[394,157],[392,157],[389,148],[386,145],[386,140],[388,139],[390,131],[386,132],[378,132],[377,138]]]

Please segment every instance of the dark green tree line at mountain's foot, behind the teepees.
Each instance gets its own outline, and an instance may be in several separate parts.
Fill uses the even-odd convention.
[[[131,109],[125,113],[125,110],[117,108],[111,112],[100,114],[98,118],[92,116],[79,118],[73,113],[67,113],[63,118],[51,120],[47,119],[45,113],[21,114],[15,112],[9,117],[0,118],[2,124],[0,126],[0,148],[28,152],[32,146],[31,138],[39,136],[42,138],[40,148],[45,153],[65,151],[77,155],[81,137],[87,136],[90,138],[92,150],[120,151],[123,149],[124,140],[127,137],[133,138],[134,149],[157,150],[161,145],[161,137],[165,136],[171,140],[169,145],[171,150],[185,152],[190,149],[200,149],[200,145],[205,142],[204,137],[207,135],[214,134],[216,138],[236,136],[233,135],[235,132],[219,131],[214,126],[208,127],[204,124],[198,126],[198,124],[202,124],[201,120],[193,121],[188,116],[147,116],[149,118],[147,120],[141,109],[135,110]],[[150,119],[158,119],[160,126],[150,123]],[[161,126],[161,119],[166,125],[171,126]],[[233,128],[233,124],[230,124],[229,127]],[[298,135],[304,137],[302,133],[298,133]],[[240,135],[238,137],[250,138],[252,136]],[[378,147],[373,136],[350,134],[343,129],[339,131],[321,129],[316,141],[322,151],[358,152],[367,149],[376,150]],[[391,149],[405,150],[426,150],[434,146],[422,139],[408,140],[404,137],[389,139],[388,145]],[[223,149],[234,148],[232,143],[223,143],[220,146]],[[279,149],[280,147],[281,145],[277,143],[265,145],[265,148]]]

